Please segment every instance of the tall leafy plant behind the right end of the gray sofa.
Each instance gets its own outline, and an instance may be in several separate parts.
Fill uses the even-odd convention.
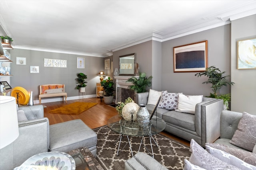
[[[227,78],[230,77],[230,75],[223,76],[224,72],[221,72],[219,68],[216,68],[215,66],[210,66],[206,68],[204,72],[196,73],[195,76],[201,77],[201,76],[207,76],[208,80],[206,82],[202,82],[202,84],[212,84],[212,91],[213,94],[210,93],[210,98],[218,98],[222,99],[224,101],[224,108],[228,109],[228,102],[230,102],[230,94],[220,94],[220,88],[222,86],[228,86],[228,85],[234,85],[234,82],[229,81]]]

